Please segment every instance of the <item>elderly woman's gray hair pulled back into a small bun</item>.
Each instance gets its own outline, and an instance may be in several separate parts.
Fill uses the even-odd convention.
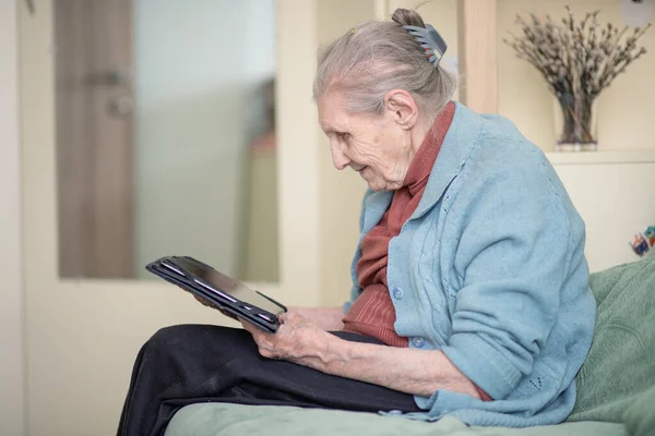
[[[319,53],[314,100],[330,89],[348,96],[354,113],[378,116],[391,89],[405,89],[430,120],[452,98],[457,86],[453,73],[428,61],[425,49],[403,28],[425,27],[415,11],[396,9],[392,21],[371,21],[349,31]]]

